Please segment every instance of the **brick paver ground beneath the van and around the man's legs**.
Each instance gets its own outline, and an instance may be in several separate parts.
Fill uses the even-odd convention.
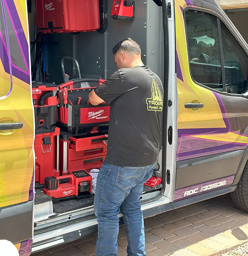
[[[216,256],[248,241],[248,213],[222,196],[173,211],[145,222],[147,256]],[[94,256],[97,234],[32,256]],[[119,256],[127,256],[125,226],[120,227]]]

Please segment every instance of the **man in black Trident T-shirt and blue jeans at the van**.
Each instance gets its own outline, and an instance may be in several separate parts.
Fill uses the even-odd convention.
[[[161,149],[163,87],[142,63],[140,46],[132,39],[119,42],[113,54],[118,70],[89,94],[92,105],[110,105],[108,154],[97,177],[94,199],[96,256],[118,255],[119,212],[126,226],[128,256],[143,256],[140,196]]]

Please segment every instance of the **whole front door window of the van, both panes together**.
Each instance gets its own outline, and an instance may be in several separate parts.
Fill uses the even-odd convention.
[[[225,67],[225,91],[241,94],[248,90],[248,56],[218,18],[205,12],[185,12],[190,71],[195,82],[223,91],[221,54]],[[219,44],[221,34],[222,44]]]

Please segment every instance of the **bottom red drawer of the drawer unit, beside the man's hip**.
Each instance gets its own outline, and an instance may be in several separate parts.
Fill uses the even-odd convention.
[[[92,169],[100,169],[105,155],[101,155],[98,157],[89,157],[84,159],[78,159],[74,161],[68,161],[68,172],[76,171],[76,170],[92,170]]]

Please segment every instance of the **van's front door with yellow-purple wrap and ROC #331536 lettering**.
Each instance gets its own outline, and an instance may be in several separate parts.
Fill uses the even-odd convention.
[[[247,148],[248,101],[241,93],[247,90],[248,57],[223,16],[217,4],[177,1],[174,202],[231,186]]]

